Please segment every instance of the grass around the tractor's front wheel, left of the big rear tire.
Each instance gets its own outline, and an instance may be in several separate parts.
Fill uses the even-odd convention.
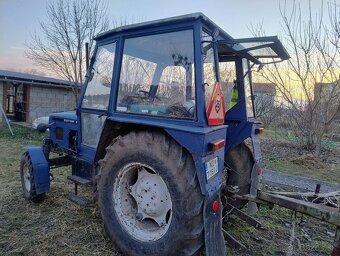
[[[52,192],[42,203],[23,198],[20,155],[25,145],[40,145],[43,137],[19,127],[13,137],[7,132],[0,130],[0,255],[115,255],[95,207],[66,199],[73,190],[68,168],[54,171]]]

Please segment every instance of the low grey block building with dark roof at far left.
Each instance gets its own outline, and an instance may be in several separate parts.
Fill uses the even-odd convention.
[[[0,106],[13,121],[33,122],[53,112],[75,108],[71,83],[8,70],[0,70]],[[4,116],[0,113],[0,123]]]

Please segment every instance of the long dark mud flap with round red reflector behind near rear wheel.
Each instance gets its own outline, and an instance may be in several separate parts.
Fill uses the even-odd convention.
[[[214,202],[218,202],[218,211],[213,209]],[[205,254],[207,256],[226,255],[225,240],[222,233],[222,202],[219,193],[212,196],[206,195],[204,201],[204,231]]]

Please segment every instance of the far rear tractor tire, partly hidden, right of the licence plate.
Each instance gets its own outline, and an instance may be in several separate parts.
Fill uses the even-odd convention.
[[[225,155],[224,167],[227,169],[226,184],[227,186],[237,186],[238,192],[236,194],[245,195],[250,193],[251,172],[254,163],[253,153],[244,142],[231,149]],[[228,201],[228,203],[241,209],[247,201],[236,199]]]

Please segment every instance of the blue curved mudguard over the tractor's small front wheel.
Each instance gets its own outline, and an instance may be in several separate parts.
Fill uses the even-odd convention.
[[[50,167],[40,147],[26,147],[32,161],[35,190],[37,194],[50,192]]]

